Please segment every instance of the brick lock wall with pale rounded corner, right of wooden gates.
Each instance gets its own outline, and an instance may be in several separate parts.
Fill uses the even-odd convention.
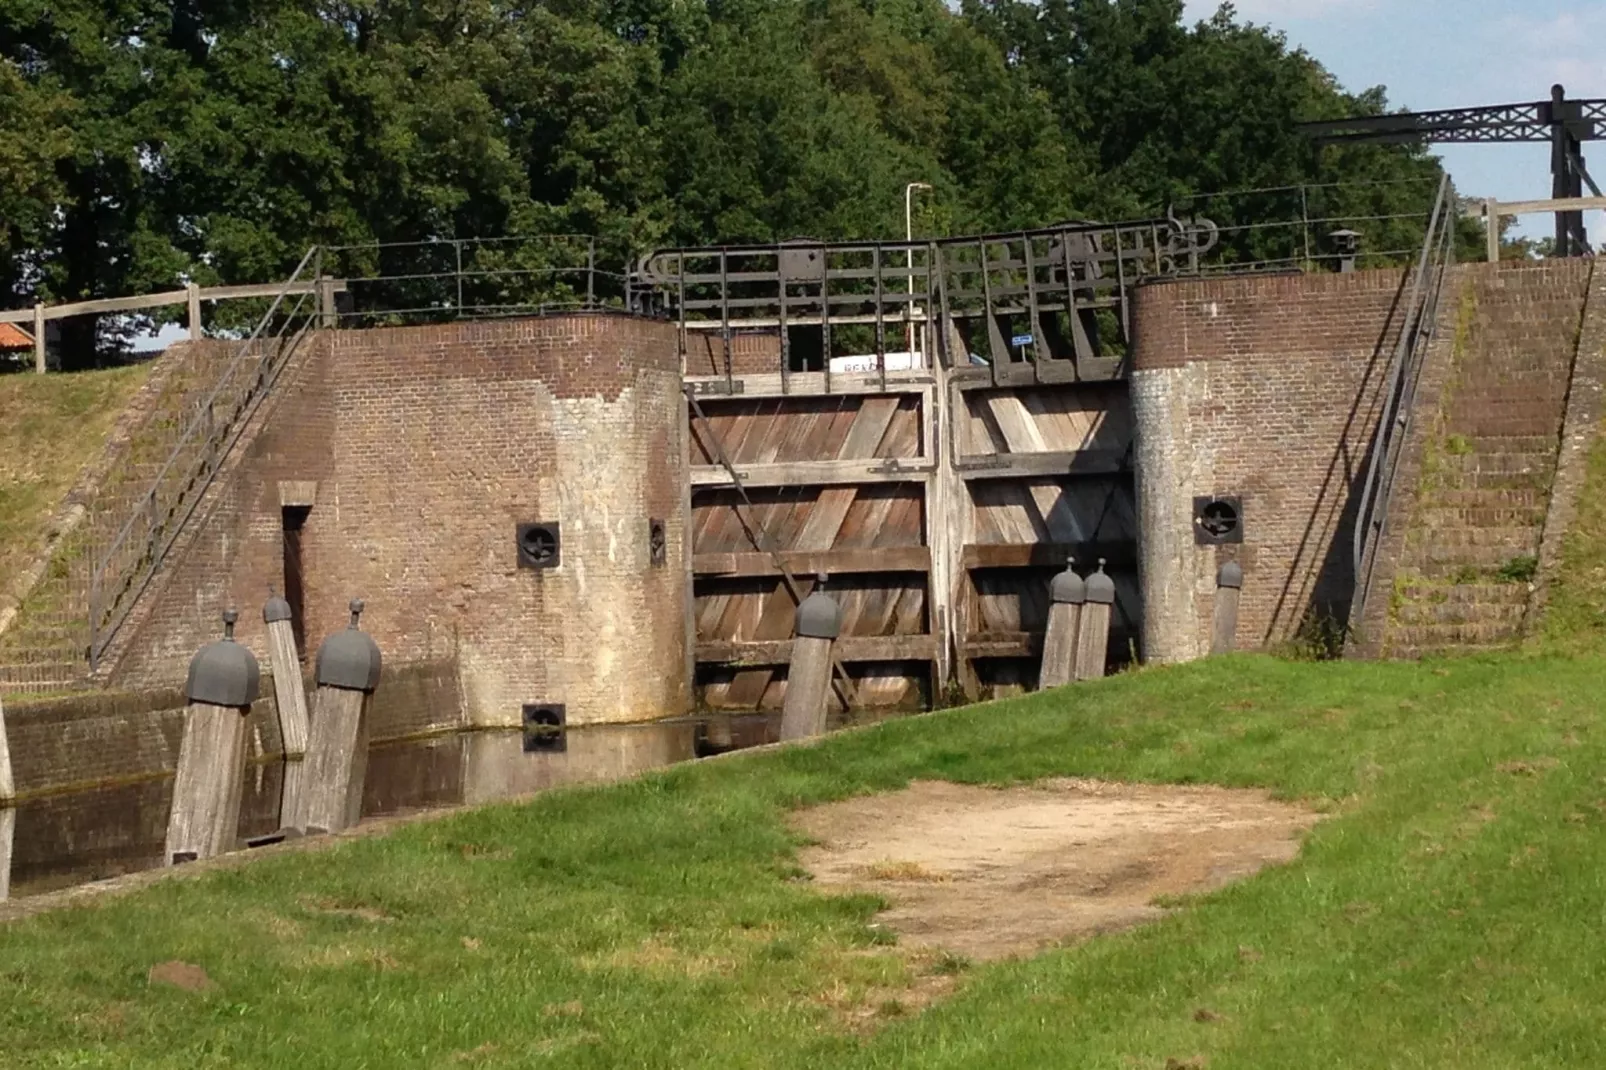
[[[1209,649],[1216,569],[1245,570],[1238,646],[1347,614],[1365,479],[1404,275],[1158,283],[1134,307],[1143,651]],[[1196,546],[1193,498],[1243,500],[1240,546]]]

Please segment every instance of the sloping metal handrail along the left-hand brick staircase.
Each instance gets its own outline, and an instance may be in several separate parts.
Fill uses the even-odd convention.
[[[92,551],[88,582],[88,668],[93,675],[140,596],[212,485],[230,448],[286,363],[320,326],[321,251],[307,251],[281,284],[255,329],[225,358],[206,397],[183,418],[181,431],[149,487],[104,549]],[[316,283],[308,286],[307,283]]]

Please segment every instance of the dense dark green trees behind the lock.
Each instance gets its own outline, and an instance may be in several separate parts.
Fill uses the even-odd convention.
[[[22,300],[262,281],[313,243],[888,236],[911,182],[922,233],[964,233],[1288,183],[1383,185],[1204,207],[1389,215],[1439,174],[1319,154],[1294,124],[1381,90],[1180,0],[5,0],[0,104]],[[1306,230],[1233,241],[1302,255]]]

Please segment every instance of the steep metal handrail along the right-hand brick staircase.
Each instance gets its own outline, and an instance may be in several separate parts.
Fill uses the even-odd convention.
[[[1388,530],[1389,503],[1410,435],[1416,384],[1421,381],[1423,358],[1433,339],[1444,278],[1455,263],[1457,218],[1455,186],[1445,175],[1439,183],[1428,231],[1421,239],[1421,252],[1412,268],[1400,334],[1384,379],[1383,411],[1372,442],[1372,461],[1360,487],[1354,533],[1355,591],[1349,611],[1352,631],[1365,622],[1367,606],[1373,598],[1378,553]]]

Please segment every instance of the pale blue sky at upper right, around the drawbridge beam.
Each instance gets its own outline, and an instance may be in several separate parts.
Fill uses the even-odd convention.
[[[1188,0],[1188,19],[1209,18],[1217,0]],[[1240,21],[1282,31],[1331,71],[1344,88],[1384,85],[1391,108],[1469,108],[1550,96],[1606,96],[1606,0],[1238,0]],[[1550,196],[1547,145],[1442,145],[1463,196],[1502,201]],[[1606,141],[1585,143],[1584,161],[1606,186]],[[1606,241],[1606,212],[1585,218],[1590,241]],[[1527,215],[1521,231],[1555,231],[1553,217]]]

